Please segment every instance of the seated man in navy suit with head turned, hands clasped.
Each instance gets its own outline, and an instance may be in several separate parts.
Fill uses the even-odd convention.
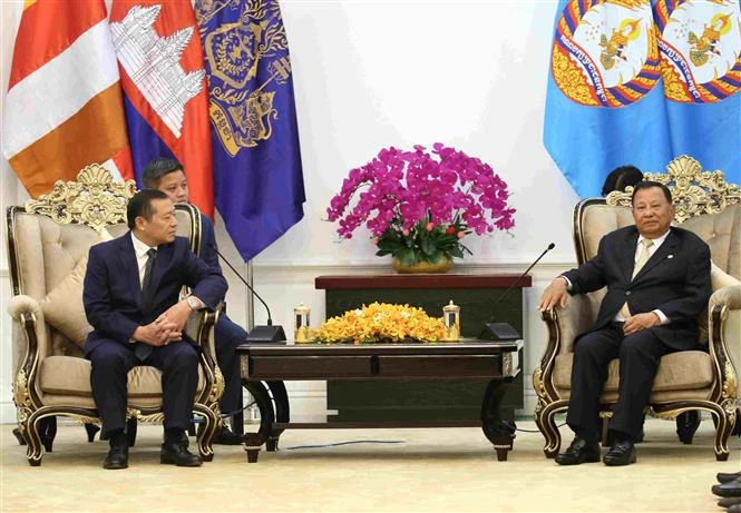
[[[162,371],[165,441],[160,462],[199,466],[185,428],[193,416],[199,348],[183,333],[194,310],[215,308],[226,294],[217,268],[176,237],[175,207],[166,194],[145,189],[127,207],[121,237],[90,248],[82,299],[92,332],[85,344],[92,397],[108,436],[104,468],[128,466],[127,374],[135,365]],[[179,300],[181,288],[193,293]]]

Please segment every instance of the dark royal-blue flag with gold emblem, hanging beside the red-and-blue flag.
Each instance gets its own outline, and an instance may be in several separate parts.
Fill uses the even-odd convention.
[[[275,0],[196,0],[208,78],[214,200],[245,260],[303,217],[289,45]]]

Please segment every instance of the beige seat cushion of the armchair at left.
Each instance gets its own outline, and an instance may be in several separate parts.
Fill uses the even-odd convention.
[[[45,394],[92,397],[90,361],[72,356],[49,356],[41,361],[39,383]],[[198,365],[198,393],[204,386],[203,369]],[[128,395],[130,398],[159,397],[162,372],[147,365],[134,367],[128,373]]]

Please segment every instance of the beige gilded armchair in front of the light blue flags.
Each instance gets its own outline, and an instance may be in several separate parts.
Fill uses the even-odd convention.
[[[666,174],[646,174],[644,179],[665,184],[672,190],[675,223],[708,243],[713,259],[713,295],[701,314],[701,344],[705,351],[665,355],[650,398],[650,413],[674,418],[682,412],[710,412],[716,421],[715,457],[729,457],[728,437],[737,418],[739,355],[741,352],[741,190],[728,185],[720,171],[703,171],[686,156],[666,167]],[[579,201],[574,208],[574,243],[578,264],[591,259],[607,233],[633,224],[631,193],[611,193],[607,198]],[[568,406],[574,337],[596,319],[604,289],[573,296],[563,309],[543,314],[548,342],[533,375],[538,395],[535,422],[546,438],[544,452],[554,457],[560,434],[554,415]],[[702,329],[704,328],[704,329]],[[617,398],[618,362],[610,365],[602,394],[603,415],[608,422]],[[606,424],[605,424],[606,425]]]

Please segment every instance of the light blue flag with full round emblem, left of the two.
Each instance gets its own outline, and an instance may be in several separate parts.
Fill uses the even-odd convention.
[[[599,196],[615,167],[672,159],[649,0],[560,0],[544,144],[582,198]]]

